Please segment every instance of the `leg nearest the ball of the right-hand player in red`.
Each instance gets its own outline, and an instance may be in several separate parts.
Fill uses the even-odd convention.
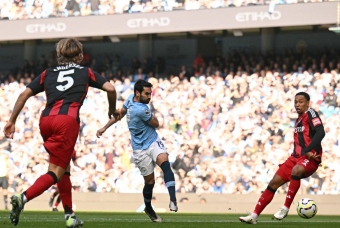
[[[318,166],[318,162],[308,160],[305,156],[298,159],[296,165],[292,169],[285,203],[283,207],[274,215],[276,219],[282,220],[287,216],[295,195],[300,189],[301,179],[312,175],[318,169]]]

